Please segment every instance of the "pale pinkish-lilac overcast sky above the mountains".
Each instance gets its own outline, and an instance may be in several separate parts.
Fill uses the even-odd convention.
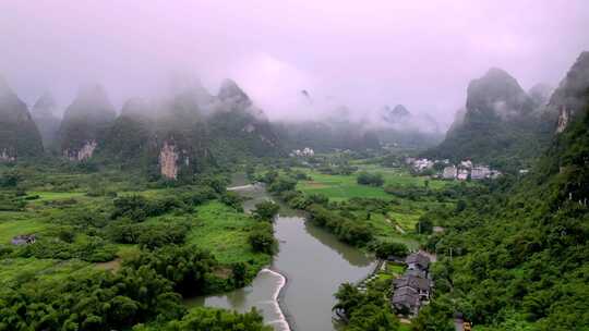
[[[213,93],[233,78],[271,119],[312,118],[306,89],[449,122],[489,68],[556,85],[588,49],[587,0],[0,1],[0,74],[29,105],[48,89],[67,106],[97,81],[120,106],[180,71]]]

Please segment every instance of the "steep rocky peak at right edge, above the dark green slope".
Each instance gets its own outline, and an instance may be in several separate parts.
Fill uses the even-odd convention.
[[[581,112],[587,105],[589,91],[589,51],[582,52],[570,68],[564,79],[552,94],[546,106],[556,124],[556,133],[563,132],[570,118]]]

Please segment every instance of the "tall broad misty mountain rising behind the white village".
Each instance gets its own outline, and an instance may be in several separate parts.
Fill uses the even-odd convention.
[[[507,72],[491,69],[470,82],[465,110],[458,111],[444,142],[428,155],[500,168],[526,167],[550,137],[542,134],[542,119],[534,112],[542,102]]]

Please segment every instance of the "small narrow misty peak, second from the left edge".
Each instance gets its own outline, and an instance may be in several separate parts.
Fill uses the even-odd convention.
[[[61,120],[56,115],[56,100],[50,93],[41,95],[31,110],[31,115],[37,124],[46,149],[55,147],[57,144]]]

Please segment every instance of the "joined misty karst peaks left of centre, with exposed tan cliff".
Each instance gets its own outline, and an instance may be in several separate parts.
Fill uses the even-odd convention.
[[[84,90],[67,110],[64,154],[73,160],[92,157],[143,169],[152,176],[179,179],[217,164],[217,159],[283,152],[264,112],[235,82],[226,81],[218,96],[197,81],[185,82],[175,81],[164,99],[128,100],[116,119],[104,89]],[[83,135],[82,130],[91,134]]]

